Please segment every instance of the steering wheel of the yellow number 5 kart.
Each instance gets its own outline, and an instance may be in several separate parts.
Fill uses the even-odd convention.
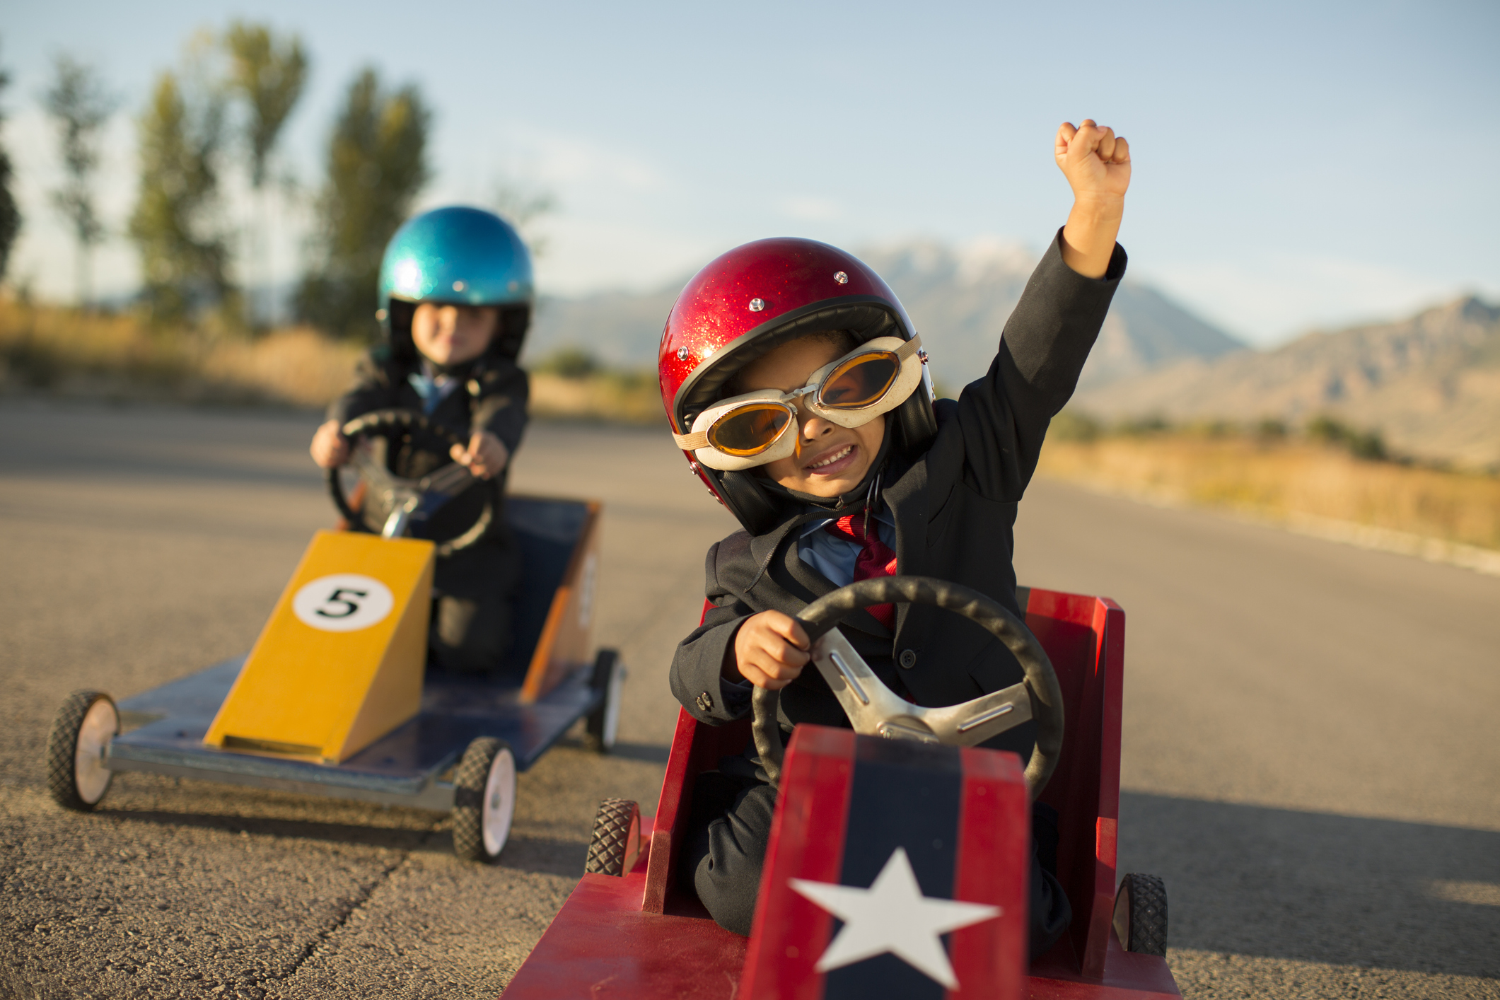
[[[464,441],[456,433],[410,409],[375,409],[345,423],[339,430],[345,438],[363,438],[388,430],[402,430],[426,444],[426,450],[444,457],[447,457],[453,445],[464,445]],[[358,447],[351,448],[350,465],[364,480],[366,505],[374,501],[376,510],[390,511],[380,532],[382,538],[400,538],[406,534],[412,520],[424,520],[472,486],[477,478],[468,468],[453,462],[440,466],[430,475],[424,475],[420,480],[404,480],[399,475],[393,475],[384,462],[380,462],[369,451]],[[344,520],[350,525],[351,531],[374,534],[374,529],[364,523],[363,514],[350,505],[338,468],[328,469],[328,495],[333,498],[333,505],[344,514]],[[484,535],[494,517],[494,501],[486,496],[484,510],[480,511],[478,519],[464,534],[440,543],[438,555],[446,556],[472,546]]]

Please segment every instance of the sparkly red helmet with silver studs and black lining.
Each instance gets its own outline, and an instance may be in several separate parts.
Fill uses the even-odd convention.
[[[778,237],[720,255],[678,295],[662,331],[657,373],[674,433],[717,402],[736,370],[772,348],[808,333],[844,330],[861,343],[874,337],[912,340],[916,331],[880,276],[850,253]],[[932,376],[891,414],[892,448],[915,456],[938,430]],[[778,501],[754,472],[704,468],[682,453],[735,517],[753,534],[774,526]]]

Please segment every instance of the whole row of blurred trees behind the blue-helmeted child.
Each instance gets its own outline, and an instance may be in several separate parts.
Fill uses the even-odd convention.
[[[432,111],[414,84],[360,69],[332,123],[324,175],[303,193],[279,145],[310,70],[296,33],[234,21],[190,36],[135,111],[136,195],[118,235],[134,244],[142,282],[123,310],[158,336],[260,336],[288,318],[334,339],[375,336],[381,252],[432,177]],[[8,82],[0,69],[0,91]],[[50,195],[75,243],[74,304],[96,312],[92,256],[116,235],[98,208],[99,144],[120,102],[96,66],[62,52],[40,103],[63,166]],[[12,186],[0,139],[0,279],[21,226]],[[231,186],[249,193],[249,217],[232,217]],[[522,231],[554,207],[548,192],[510,184],[495,201]],[[312,216],[312,235],[292,315],[280,316],[270,231],[292,213]]]

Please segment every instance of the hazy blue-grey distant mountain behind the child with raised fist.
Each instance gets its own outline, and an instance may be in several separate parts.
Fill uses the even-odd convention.
[[[990,366],[1005,319],[1016,307],[1036,258],[981,243],[963,249],[918,241],[861,253],[900,297],[922,334],[939,388],[952,394]],[[586,348],[609,364],[650,369],[662,327],[684,276],[648,292],[597,292],[543,298],[528,343],[530,357],[561,346]],[[1106,385],[1182,358],[1216,358],[1245,345],[1198,319],[1148,285],[1126,279],[1080,378]]]

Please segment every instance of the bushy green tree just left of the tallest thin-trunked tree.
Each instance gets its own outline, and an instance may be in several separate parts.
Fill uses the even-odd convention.
[[[130,216],[156,324],[231,304],[230,252],[216,225],[222,141],[219,94],[204,90],[189,100],[177,76],[162,73],[140,120],[141,187]]]

